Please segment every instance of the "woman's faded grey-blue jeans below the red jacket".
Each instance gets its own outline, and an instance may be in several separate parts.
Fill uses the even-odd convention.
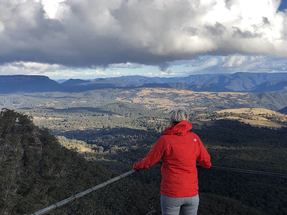
[[[193,197],[174,198],[169,196],[160,196],[162,215],[196,215],[199,204],[198,194]]]

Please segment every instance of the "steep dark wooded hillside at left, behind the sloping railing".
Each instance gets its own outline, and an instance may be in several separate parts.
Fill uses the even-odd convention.
[[[0,113],[0,158],[0,214],[28,214],[113,177],[8,109]]]

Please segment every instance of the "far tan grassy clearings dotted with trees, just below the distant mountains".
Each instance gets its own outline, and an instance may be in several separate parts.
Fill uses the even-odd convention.
[[[119,93],[116,100],[138,103],[158,110],[172,109],[172,107],[179,105],[185,106],[189,110],[196,110],[195,108],[206,108],[204,105],[210,104],[214,106],[227,105],[231,101],[233,105],[244,106],[246,104],[246,106],[250,106],[250,95],[248,93],[195,92],[166,88],[142,88],[129,91],[129,93],[132,92],[136,92],[133,94],[135,96],[127,98],[124,93]]]

